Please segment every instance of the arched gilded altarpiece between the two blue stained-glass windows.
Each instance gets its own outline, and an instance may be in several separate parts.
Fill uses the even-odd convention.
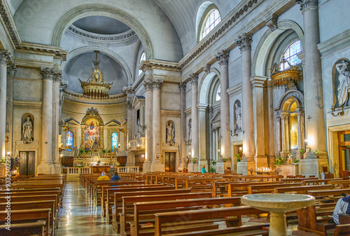
[[[102,151],[104,148],[104,122],[97,109],[93,107],[81,121],[81,148],[92,152]]]

